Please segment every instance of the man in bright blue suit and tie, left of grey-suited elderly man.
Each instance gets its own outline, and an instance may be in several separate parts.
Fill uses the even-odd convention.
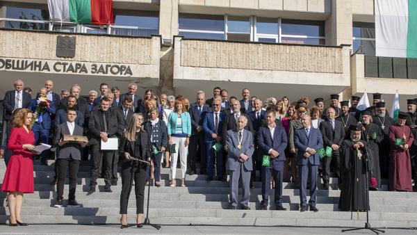
[[[213,101],[213,111],[206,113],[203,120],[203,131],[206,134],[204,139],[206,141],[206,156],[207,156],[207,181],[212,181],[214,177],[214,161],[216,161],[217,177],[223,179],[223,151],[215,152],[213,145],[222,141],[222,123],[223,113],[220,112],[220,99]]]

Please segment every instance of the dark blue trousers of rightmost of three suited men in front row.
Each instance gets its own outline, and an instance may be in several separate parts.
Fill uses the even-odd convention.
[[[309,205],[316,207],[318,165],[298,165],[298,180],[300,181],[300,206],[307,205],[307,182],[310,184]]]

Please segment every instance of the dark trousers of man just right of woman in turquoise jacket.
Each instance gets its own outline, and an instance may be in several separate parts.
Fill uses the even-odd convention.
[[[199,156],[200,174],[206,172],[206,144],[204,143],[204,132],[200,131],[190,136],[190,145],[188,145],[188,165],[190,169],[196,171],[195,163]]]

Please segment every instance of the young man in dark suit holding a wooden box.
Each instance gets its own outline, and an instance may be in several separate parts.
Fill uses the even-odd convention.
[[[83,127],[75,123],[76,110],[67,108],[67,122],[56,126],[55,144],[58,145],[56,165],[58,167],[58,184],[56,186],[56,203],[54,207],[63,206],[64,183],[67,177],[67,170],[70,172],[70,193],[68,194],[68,205],[79,206],[75,200],[76,179],[81,161],[81,147],[85,145],[63,141],[64,135],[82,136]]]

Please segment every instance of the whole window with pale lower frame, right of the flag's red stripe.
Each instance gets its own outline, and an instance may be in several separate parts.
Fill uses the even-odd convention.
[[[145,36],[159,33],[158,12],[129,11],[117,13],[115,25],[111,26],[113,35]]]

